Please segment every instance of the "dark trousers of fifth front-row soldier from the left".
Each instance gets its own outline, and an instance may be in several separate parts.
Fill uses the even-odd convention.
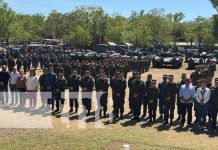
[[[121,94],[120,96],[114,95],[113,99],[113,108],[114,108],[114,114],[118,115],[124,113],[124,97],[125,94]]]

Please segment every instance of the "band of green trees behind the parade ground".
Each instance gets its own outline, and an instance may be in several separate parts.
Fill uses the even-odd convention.
[[[211,0],[212,1],[212,0]],[[216,6],[213,1],[214,7]],[[215,7],[216,8],[216,7]],[[136,46],[166,45],[170,42],[199,38],[213,43],[216,21],[198,17],[184,22],[184,13],[166,14],[164,9],[132,11],[129,18],[109,15],[101,7],[80,6],[69,13],[52,11],[47,17],[41,14],[14,13],[0,0],[0,40],[12,44],[40,41],[43,38],[63,39],[74,47],[94,47],[105,37],[109,42],[131,42]]]

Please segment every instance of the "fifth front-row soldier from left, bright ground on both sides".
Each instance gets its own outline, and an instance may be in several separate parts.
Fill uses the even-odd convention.
[[[120,73],[119,78],[116,79],[114,84],[115,97],[113,101],[114,102],[113,107],[114,107],[115,118],[118,118],[120,113],[120,119],[123,119],[125,90],[126,90],[126,80],[124,79],[123,73]]]

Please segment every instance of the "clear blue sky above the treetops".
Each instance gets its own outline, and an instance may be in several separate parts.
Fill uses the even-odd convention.
[[[198,16],[211,17],[216,13],[209,0],[4,0],[17,13],[40,13],[48,16],[51,10],[62,13],[72,11],[76,6],[101,6],[107,13],[119,13],[129,17],[131,10],[164,8],[166,13],[184,12],[185,20]]]

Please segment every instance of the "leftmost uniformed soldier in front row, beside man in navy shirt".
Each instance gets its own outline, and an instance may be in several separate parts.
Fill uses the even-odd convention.
[[[54,112],[62,112],[64,108],[64,101],[65,101],[65,88],[67,85],[67,80],[64,78],[63,72],[58,74],[58,80],[55,84],[56,94],[56,110]],[[61,104],[61,107],[60,107]]]

